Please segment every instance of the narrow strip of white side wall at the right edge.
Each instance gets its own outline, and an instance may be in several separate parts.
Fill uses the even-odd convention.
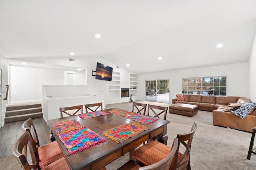
[[[250,101],[256,102],[256,34],[249,59],[249,92]]]

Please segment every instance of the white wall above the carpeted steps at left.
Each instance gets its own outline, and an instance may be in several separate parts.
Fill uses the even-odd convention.
[[[10,65],[10,103],[42,100],[42,85],[64,85],[64,70]]]

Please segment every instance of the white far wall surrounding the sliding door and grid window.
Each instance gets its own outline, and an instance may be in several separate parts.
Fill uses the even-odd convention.
[[[249,97],[248,63],[227,64],[202,68],[184,70],[171,70],[138,75],[138,100],[145,100],[145,81],[169,79],[170,82],[170,104],[176,94],[182,93],[182,78],[227,76],[226,96]]]

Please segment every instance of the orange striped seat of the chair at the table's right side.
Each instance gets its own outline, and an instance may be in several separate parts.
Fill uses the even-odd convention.
[[[148,166],[164,159],[170,153],[171,149],[171,147],[158,141],[152,141],[136,149],[132,156],[143,165]],[[179,152],[178,160],[181,156],[182,154]]]

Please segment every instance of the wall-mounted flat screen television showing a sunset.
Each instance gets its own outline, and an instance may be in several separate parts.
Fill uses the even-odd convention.
[[[97,62],[96,76],[95,76],[96,79],[111,81],[112,72],[113,72],[112,67]]]

